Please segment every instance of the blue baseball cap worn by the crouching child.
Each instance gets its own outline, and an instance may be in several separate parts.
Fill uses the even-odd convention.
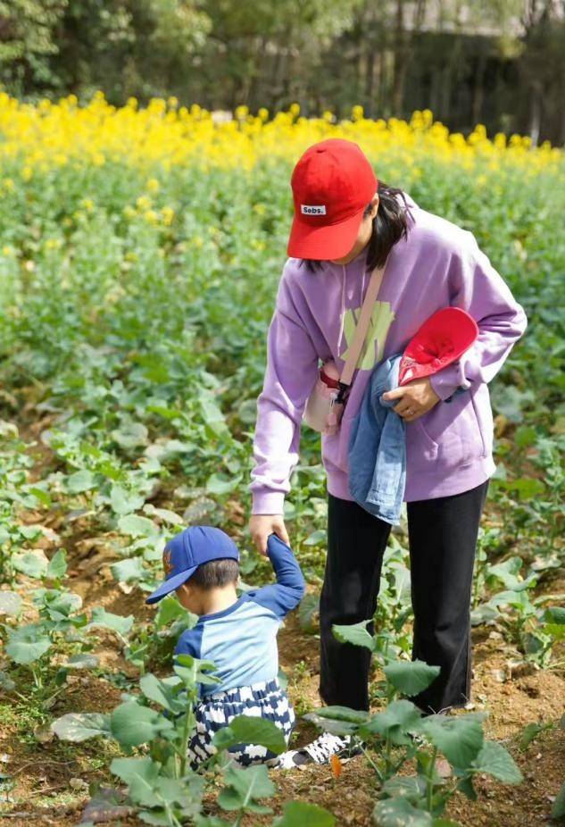
[[[229,557],[239,560],[236,544],[225,531],[211,525],[194,525],[170,540],[162,553],[165,581],[145,603],[157,603],[190,580],[199,565]]]

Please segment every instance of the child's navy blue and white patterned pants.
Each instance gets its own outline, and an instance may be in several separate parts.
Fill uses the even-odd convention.
[[[212,745],[214,732],[228,726],[237,715],[267,718],[276,723],[284,733],[288,745],[295,723],[295,711],[287,693],[280,689],[277,679],[216,692],[206,696],[195,708],[196,731],[188,745],[188,759],[193,770],[215,755],[217,749]],[[229,749],[228,753],[242,766],[267,764],[270,761],[276,763],[278,760],[269,749],[253,744],[237,745]]]

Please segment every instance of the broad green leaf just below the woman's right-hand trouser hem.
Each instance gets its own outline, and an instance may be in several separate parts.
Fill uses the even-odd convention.
[[[443,752],[450,764],[466,768],[483,746],[483,715],[429,715],[420,730]]]

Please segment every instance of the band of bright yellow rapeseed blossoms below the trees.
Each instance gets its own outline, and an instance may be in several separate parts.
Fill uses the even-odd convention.
[[[154,99],[140,108],[131,98],[118,108],[102,93],[87,105],[79,105],[75,96],[56,104],[24,104],[0,94],[0,168],[7,166],[12,174],[17,162],[24,180],[36,171],[75,163],[117,162],[147,170],[158,165],[165,171],[186,166],[251,170],[271,158],[293,162],[324,138],[354,140],[375,163],[386,156],[392,177],[398,171],[409,180],[419,178],[430,159],[465,170],[479,165],[483,176],[501,167],[535,176],[562,163],[561,151],[549,144],[532,147],[529,138],[517,135],[487,138],[480,124],[467,138],[450,133],[428,110],[415,112],[410,121],[374,121],[355,106],[351,119],[335,121],[331,113],[304,118],[298,104],[272,119],[266,109],[253,115],[240,106],[235,117],[226,120],[198,105],[179,107],[175,99]],[[148,191],[158,188],[159,182],[150,178]]]

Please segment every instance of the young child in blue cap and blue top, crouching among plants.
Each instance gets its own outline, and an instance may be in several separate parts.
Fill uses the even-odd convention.
[[[240,714],[276,723],[288,744],[295,713],[278,685],[277,632],[302,599],[304,579],[291,549],[276,534],[267,548],[277,582],[237,597],[239,552],[233,540],[211,526],[185,529],[165,547],[165,581],[145,600],[156,603],[175,591],[182,606],[199,615],[195,627],[181,634],[175,655],[212,661],[221,681],[200,687],[188,752],[193,769],[216,752],[214,732]],[[243,766],[278,764],[269,750],[253,744],[229,752]]]

